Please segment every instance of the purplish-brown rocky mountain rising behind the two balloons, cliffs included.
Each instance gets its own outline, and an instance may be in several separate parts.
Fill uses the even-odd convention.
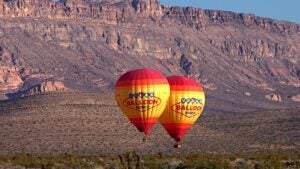
[[[20,96],[45,81],[108,91],[149,67],[201,82],[211,111],[292,107],[299,42],[298,24],[157,0],[2,0],[0,91]]]

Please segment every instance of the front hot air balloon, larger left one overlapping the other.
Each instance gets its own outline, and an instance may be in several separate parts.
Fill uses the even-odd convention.
[[[145,133],[144,142],[166,108],[169,96],[168,80],[152,69],[129,71],[116,83],[117,104],[131,123]]]

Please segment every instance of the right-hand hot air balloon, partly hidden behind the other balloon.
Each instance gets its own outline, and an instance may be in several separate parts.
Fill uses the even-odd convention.
[[[180,140],[203,111],[205,95],[201,85],[193,79],[183,76],[167,79],[171,92],[159,122],[177,142],[174,147],[180,148]]]

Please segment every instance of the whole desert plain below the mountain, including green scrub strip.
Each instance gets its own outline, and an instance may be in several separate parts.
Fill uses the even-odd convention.
[[[204,114],[175,150],[160,125],[143,144],[112,99],[52,93],[0,102],[0,169],[300,168],[299,109]]]

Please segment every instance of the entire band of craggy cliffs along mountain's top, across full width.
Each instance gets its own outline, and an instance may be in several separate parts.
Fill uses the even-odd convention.
[[[119,5],[118,5],[119,4]],[[120,5],[123,4],[123,5]],[[172,7],[161,5],[159,0],[11,0],[0,1],[0,17],[46,17],[46,18],[99,18],[106,12],[115,12],[115,18],[107,18],[122,22],[122,18],[137,16],[175,17],[195,24],[199,28],[207,22],[239,21],[245,25],[256,24],[265,29],[281,32],[299,31],[299,24],[258,17],[254,14],[235,13],[221,10],[205,10],[195,7]],[[115,11],[121,9],[120,11]],[[135,10],[135,13],[133,13]],[[208,19],[210,21],[208,21]]]

